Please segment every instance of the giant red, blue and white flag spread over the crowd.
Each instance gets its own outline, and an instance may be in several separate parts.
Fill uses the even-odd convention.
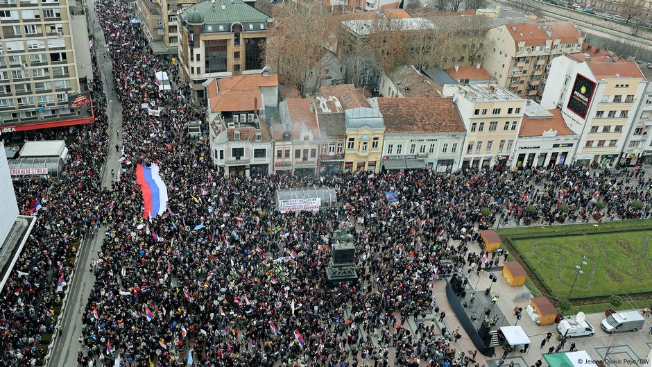
[[[143,192],[145,203],[143,218],[163,215],[168,203],[168,189],[159,175],[159,167],[156,164],[152,164],[151,167],[138,164],[136,182]]]

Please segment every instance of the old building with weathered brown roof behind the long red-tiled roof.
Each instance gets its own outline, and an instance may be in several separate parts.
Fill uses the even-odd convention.
[[[413,65],[401,65],[383,71],[380,78],[380,95],[384,97],[440,96],[437,85]]]

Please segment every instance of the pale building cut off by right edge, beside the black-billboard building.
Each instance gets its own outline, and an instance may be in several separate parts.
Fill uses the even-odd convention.
[[[652,163],[652,66],[639,64],[639,68],[647,83],[620,157],[623,166]]]

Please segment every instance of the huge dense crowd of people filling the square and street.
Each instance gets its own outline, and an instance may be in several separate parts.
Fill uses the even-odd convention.
[[[98,0],[96,9],[125,117],[122,169],[110,190],[101,188],[114,132],[95,67],[96,122],[33,136],[69,139],[65,178],[15,181],[24,210],[35,198],[43,208],[0,295],[0,366],[42,359],[37,347],[53,332],[62,297],[58,280],[70,274],[88,229],[107,236],[92,264],[81,366],[113,366],[118,358],[120,366],[177,366],[192,358],[211,367],[467,367],[472,356],[456,350],[457,332],[424,316],[439,311],[434,281],[481,265],[481,254],[469,253],[479,228],[590,221],[597,212],[601,220],[651,216],[652,181],[642,170],[221,176],[207,142],[187,133],[185,123],[203,118],[191,107],[189,87],[148,49],[129,22],[128,2]],[[161,70],[173,91],[153,83]],[[149,116],[142,103],[161,116]],[[169,205],[144,219],[135,165],[153,163]],[[314,185],[334,187],[338,205],[275,210],[276,189]],[[395,191],[399,202],[388,204],[384,191]],[[333,232],[344,228],[354,234],[359,282],[329,289]]]

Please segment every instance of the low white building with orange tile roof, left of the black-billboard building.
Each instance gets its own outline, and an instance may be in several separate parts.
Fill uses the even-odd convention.
[[[512,167],[553,167],[571,164],[578,135],[566,126],[561,110],[546,110],[527,101]]]

